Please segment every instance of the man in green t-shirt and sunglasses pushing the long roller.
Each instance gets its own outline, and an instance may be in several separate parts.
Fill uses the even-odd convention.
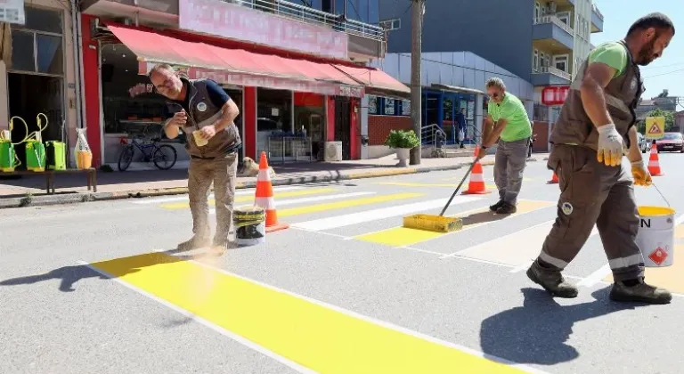
[[[494,183],[499,190],[499,202],[489,208],[501,215],[509,215],[517,210],[517,194],[523,185],[532,123],[523,102],[506,92],[506,85],[501,78],[489,78],[486,88],[491,100],[487,108],[482,148],[477,158],[485,157],[487,148],[498,140]]]

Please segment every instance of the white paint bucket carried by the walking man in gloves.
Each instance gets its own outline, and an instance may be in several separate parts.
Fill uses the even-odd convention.
[[[670,207],[639,207],[637,244],[646,267],[672,266],[674,214],[674,209]]]

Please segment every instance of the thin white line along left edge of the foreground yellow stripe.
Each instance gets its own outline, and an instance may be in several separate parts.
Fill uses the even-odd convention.
[[[195,261],[193,261],[193,262],[196,264],[199,264]],[[289,367],[292,370],[295,370],[295,371],[300,372],[300,373],[306,373],[306,374],[315,374],[316,373],[316,371],[314,371],[314,370],[305,368],[304,366],[299,365],[297,362],[290,361],[289,359],[281,356],[280,354],[275,354],[273,351],[265,348],[264,346],[256,345],[252,341],[250,341],[244,337],[240,337],[240,335],[234,334],[231,331],[228,331],[227,329],[223,329],[222,327],[216,325],[215,323],[212,323],[212,322],[207,321],[201,317],[198,317],[197,315],[195,315],[191,312],[188,312],[179,306],[173,305],[173,304],[167,302],[166,300],[164,300],[160,297],[152,295],[151,293],[149,293],[147,291],[143,291],[142,289],[137,289],[134,286],[129,285],[125,281],[119,280],[117,277],[114,277],[107,272],[103,272],[102,270],[94,267],[91,264],[86,263],[85,261],[78,261],[78,264],[82,264],[82,265],[88,267],[89,269],[93,270],[94,272],[102,274],[103,276],[109,278],[110,280],[113,280],[113,281],[117,282],[118,284],[126,287],[126,289],[132,289],[135,292],[141,294],[142,296],[149,297],[161,305],[166,305],[168,308],[173,309],[175,312],[181,313],[184,316],[190,318],[191,320],[197,321],[200,324],[208,327],[209,329],[213,329],[217,333],[224,335],[225,337],[230,337],[230,338],[232,338],[232,340],[240,343],[243,346],[247,346],[248,348],[251,348],[260,354],[264,354],[266,357],[272,358],[273,360],[275,360],[277,362],[281,362],[283,365]],[[218,270],[218,269],[215,269],[215,270]]]

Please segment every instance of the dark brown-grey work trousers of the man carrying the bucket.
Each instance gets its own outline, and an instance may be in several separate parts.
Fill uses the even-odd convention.
[[[573,261],[596,224],[616,281],[644,275],[636,243],[639,211],[631,175],[622,165],[607,167],[586,147],[556,144],[548,166],[558,175],[558,217],[539,258],[556,270]]]

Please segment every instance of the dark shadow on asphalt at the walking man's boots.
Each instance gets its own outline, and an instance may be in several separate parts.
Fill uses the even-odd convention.
[[[491,354],[517,363],[553,365],[570,362],[580,353],[566,343],[573,325],[609,313],[632,310],[642,304],[613,303],[610,288],[591,294],[595,301],[562,306],[542,289],[522,289],[523,306],[495,314],[482,322],[480,345]]]

